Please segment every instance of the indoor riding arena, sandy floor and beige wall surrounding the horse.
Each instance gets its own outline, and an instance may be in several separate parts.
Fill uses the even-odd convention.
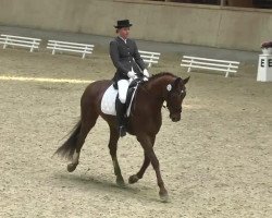
[[[260,45],[272,40],[272,15],[270,1],[255,2],[0,0],[0,35],[40,39],[33,52],[15,45],[21,39],[0,45],[0,217],[271,217],[272,83],[257,74]],[[54,155],[81,118],[88,84],[114,75],[109,41],[120,19],[133,23],[131,37],[140,50],[161,53],[150,74],[190,76],[181,121],[172,122],[162,107],[153,148],[166,203],[152,166],[128,183],[144,160],[129,134],[118,145],[126,185],[115,183],[110,130],[101,118],[74,172]],[[252,36],[249,23],[258,29]],[[52,55],[50,39],[95,47],[84,59],[65,50]],[[227,77],[208,69],[187,72],[183,56],[239,64]]]

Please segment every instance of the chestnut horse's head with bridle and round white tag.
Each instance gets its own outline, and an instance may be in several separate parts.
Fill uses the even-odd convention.
[[[186,96],[185,84],[189,81],[189,77],[182,80],[181,77],[175,78],[174,82],[166,85],[166,107],[170,112],[170,119],[173,122],[181,120],[182,104]]]

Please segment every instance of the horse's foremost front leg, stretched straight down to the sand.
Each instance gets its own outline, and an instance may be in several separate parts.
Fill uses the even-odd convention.
[[[140,142],[140,145],[143,146],[145,154],[150,159],[151,165],[154,169],[154,172],[157,175],[157,183],[158,183],[158,186],[160,187],[160,192],[159,192],[160,197],[163,202],[166,202],[169,198],[169,195],[168,195],[168,191],[164,186],[164,182],[161,177],[160,162],[153,152],[151,140],[148,136],[141,136],[141,137],[138,137],[138,141]]]

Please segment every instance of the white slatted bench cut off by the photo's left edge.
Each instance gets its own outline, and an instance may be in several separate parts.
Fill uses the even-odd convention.
[[[12,46],[12,47],[18,46],[18,47],[29,48],[30,52],[33,52],[34,49],[39,48],[40,41],[41,39],[39,38],[13,36],[5,34],[1,34],[0,36],[0,44],[3,44],[3,49],[5,49],[7,46]]]

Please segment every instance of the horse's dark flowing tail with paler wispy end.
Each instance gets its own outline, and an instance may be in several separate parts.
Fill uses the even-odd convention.
[[[70,137],[61,147],[57,149],[54,155],[62,156],[66,159],[72,159],[76,149],[78,133],[81,132],[82,121],[79,120],[77,124],[72,129]]]

